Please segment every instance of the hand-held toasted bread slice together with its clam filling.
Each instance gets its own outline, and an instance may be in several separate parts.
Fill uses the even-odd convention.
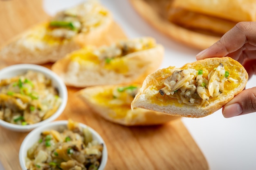
[[[230,57],[198,60],[181,68],[170,66],[146,77],[131,106],[168,115],[204,117],[243,91],[247,80],[245,68]]]

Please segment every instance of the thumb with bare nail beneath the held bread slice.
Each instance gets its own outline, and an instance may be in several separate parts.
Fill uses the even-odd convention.
[[[256,112],[256,87],[243,90],[222,108],[226,118],[253,112]]]

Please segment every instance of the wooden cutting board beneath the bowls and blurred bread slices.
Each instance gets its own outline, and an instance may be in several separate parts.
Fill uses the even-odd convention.
[[[0,0],[0,46],[29,26],[47,19],[41,0]],[[115,31],[121,32],[118,25]],[[117,32],[116,32],[117,33]],[[44,64],[50,68],[51,64]],[[113,124],[93,113],[67,87],[68,101],[58,120],[68,118],[87,124],[103,137],[108,148],[106,170],[208,170],[207,160],[182,124],[126,127]],[[0,128],[0,161],[5,170],[21,170],[18,152],[27,132]]]

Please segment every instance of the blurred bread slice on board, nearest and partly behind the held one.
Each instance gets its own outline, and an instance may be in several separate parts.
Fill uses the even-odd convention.
[[[130,103],[134,96],[128,95],[124,90],[126,87],[137,87],[139,89],[141,85],[93,86],[80,90],[77,95],[104,119],[124,126],[164,124],[179,118],[178,116],[170,116],[141,108],[131,110]],[[120,90],[118,92],[117,89],[123,89],[124,91]]]

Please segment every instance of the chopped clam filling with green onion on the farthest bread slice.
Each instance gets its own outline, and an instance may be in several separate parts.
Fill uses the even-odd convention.
[[[87,33],[104,23],[109,12],[99,2],[88,1],[56,14],[49,23],[48,35],[70,39],[77,33]]]

